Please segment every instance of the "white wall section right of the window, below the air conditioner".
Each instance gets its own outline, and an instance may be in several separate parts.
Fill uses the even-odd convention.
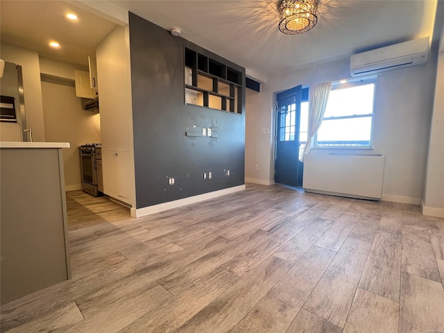
[[[374,146],[386,155],[382,199],[419,205],[433,110],[436,56],[426,66],[386,72],[377,80]]]

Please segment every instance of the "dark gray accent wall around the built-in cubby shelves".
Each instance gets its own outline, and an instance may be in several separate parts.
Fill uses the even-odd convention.
[[[185,105],[185,47],[241,71],[244,90],[245,69],[131,12],[129,26],[137,208],[243,185],[245,94],[242,114]],[[199,128],[219,137],[186,135]]]

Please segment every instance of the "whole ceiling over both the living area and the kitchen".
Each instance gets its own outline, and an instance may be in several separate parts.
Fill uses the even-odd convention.
[[[432,36],[437,3],[323,0],[318,24],[311,31],[284,35],[278,31],[275,0],[110,2],[168,30],[181,28],[185,39],[246,67],[248,73],[263,80],[352,53]],[[1,42],[86,65],[88,53],[94,52],[94,46],[115,24],[72,3],[76,1],[1,0]],[[63,17],[69,8],[80,17],[76,25]],[[58,38],[62,49],[49,49],[50,38]]]

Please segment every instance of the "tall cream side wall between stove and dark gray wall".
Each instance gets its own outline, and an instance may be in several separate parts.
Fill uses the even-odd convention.
[[[132,205],[131,214],[135,216],[129,37],[128,26],[115,28],[97,46],[96,60],[100,82],[103,192]]]

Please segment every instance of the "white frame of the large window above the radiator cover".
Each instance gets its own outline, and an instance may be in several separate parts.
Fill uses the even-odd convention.
[[[343,117],[330,117],[328,119],[353,119],[353,118],[361,118],[361,117],[370,117],[371,116],[371,128],[370,128],[370,140],[368,146],[341,146],[341,145],[331,145],[331,146],[319,146],[318,145],[318,134],[314,136],[314,142],[312,148],[319,149],[373,149],[373,130],[375,124],[375,95],[376,95],[376,80],[377,76],[367,76],[366,78],[358,78],[358,79],[350,79],[347,80],[346,83],[341,83],[341,81],[335,81],[332,83],[332,91],[336,89],[345,89],[350,87],[357,87],[359,85],[375,85],[373,90],[373,105],[371,114],[359,114],[355,116],[343,116]],[[323,119],[324,120],[324,119]]]

